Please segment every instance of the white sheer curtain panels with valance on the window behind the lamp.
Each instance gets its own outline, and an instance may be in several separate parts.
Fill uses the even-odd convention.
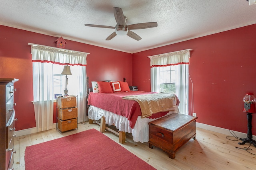
[[[78,92],[78,122],[88,120],[86,116],[86,56],[88,53],[31,45],[31,54],[34,111],[38,132],[54,128],[53,63],[79,67],[78,83],[74,87]]]

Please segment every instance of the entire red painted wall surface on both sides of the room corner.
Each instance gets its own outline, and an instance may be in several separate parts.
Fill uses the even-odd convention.
[[[242,98],[246,92],[256,96],[255,30],[256,24],[134,54],[70,40],[66,40],[66,49],[90,53],[86,67],[90,82],[126,77],[129,85],[150,91],[150,59],[147,56],[191,48],[189,73],[197,122],[246,133]],[[57,38],[0,25],[0,78],[20,79],[15,83],[14,97],[17,130],[36,126],[28,43],[55,47]],[[191,95],[190,82],[189,111]],[[252,132],[256,135],[256,117],[253,116]]]

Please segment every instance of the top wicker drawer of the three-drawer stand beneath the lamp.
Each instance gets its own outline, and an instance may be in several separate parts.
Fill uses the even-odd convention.
[[[76,96],[66,96],[66,97],[57,96],[57,103],[58,103],[57,107],[61,109],[76,107]]]

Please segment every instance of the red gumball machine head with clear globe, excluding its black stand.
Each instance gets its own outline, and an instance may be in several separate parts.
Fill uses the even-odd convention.
[[[255,102],[256,98],[253,96],[252,93],[246,93],[243,98],[244,101],[244,112],[247,113],[255,113]]]

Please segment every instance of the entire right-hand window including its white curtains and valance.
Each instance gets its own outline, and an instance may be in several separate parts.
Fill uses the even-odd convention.
[[[192,49],[149,56],[151,91],[174,93],[180,113],[188,115],[188,65]]]

